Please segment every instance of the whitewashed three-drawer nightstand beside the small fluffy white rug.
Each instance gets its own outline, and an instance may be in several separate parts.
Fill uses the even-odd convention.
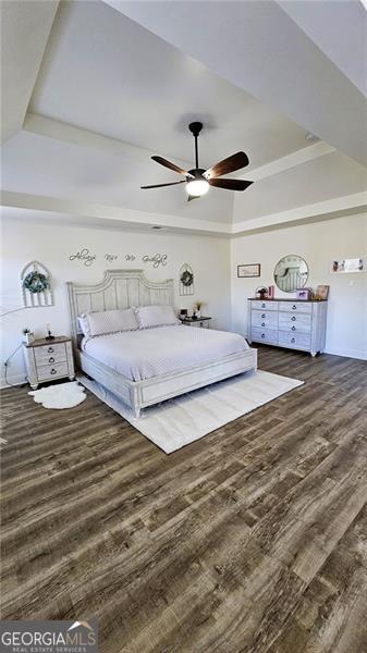
[[[75,378],[71,338],[60,335],[53,340],[36,340],[30,345],[23,343],[28,382],[33,390],[39,383]]]

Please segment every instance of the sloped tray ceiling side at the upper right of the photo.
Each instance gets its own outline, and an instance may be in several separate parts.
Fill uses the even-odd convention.
[[[319,0],[317,0],[318,2]],[[331,4],[339,0],[330,0]],[[353,10],[357,0],[351,0]],[[108,0],[124,15],[201,61],[261,101],[367,165],[367,100],[335,63],[274,0],[185,0],[167,11],[164,0]],[[298,0],[290,0],[297,4]],[[307,12],[314,12],[310,0]],[[344,15],[355,22],[352,16]],[[323,22],[337,42],[340,23]],[[313,21],[315,32],[316,20]],[[365,57],[362,39],[350,44]],[[319,40],[319,39],[317,39]],[[342,41],[345,39],[341,39]],[[329,48],[329,53],[334,51]],[[338,51],[340,58],[342,52]]]

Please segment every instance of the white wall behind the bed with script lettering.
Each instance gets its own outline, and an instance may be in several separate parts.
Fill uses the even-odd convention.
[[[54,306],[29,308],[0,319],[2,332],[1,383],[3,361],[22,340],[22,329],[35,330],[37,336],[46,335],[46,324],[56,334],[69,333],[69,316],[65,281],[95,283],[102,279],[106,269],[143,268],[148,279],[175,280],[176,308],[191,308],[196,299],[206,303],[204,312],[213,317],[213,325],[231,328],[230,306],[230,243],[224,238],[208,236],[174,235],[149,231],[127,233],[117,230],[85,229],[81,226],[27,222],[24,219],[4,219],[2,223],[2,293],[1,315],[22,306],[20,274],[23,267],[36,259],[51,272],[54,288]],[[97,255],[90,267],[70,261],[69,256],[86,247]],[[151,263],[143,263],[142,256],[157,252],[168,255],[164,268],[155,270]],[[113,262],[105,260],[105,254],[119,254]],[[135,261],[126,262],[126,254],[134,254]],[[195,294],[179,296],[179,270],[189,263],[195,273]],[[16,383],[24,380],[23,354],[19,352],[8,368],[8,379]]]

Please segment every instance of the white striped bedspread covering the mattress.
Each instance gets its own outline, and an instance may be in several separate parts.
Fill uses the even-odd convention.
[[[82,342],[86,354],[132,381],[181,371],[248,348],[237,333],[183,324],[98,335]]]

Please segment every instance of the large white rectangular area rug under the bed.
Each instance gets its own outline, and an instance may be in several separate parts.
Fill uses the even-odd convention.
[[[99,383],[82,375],[78,379],[166,454],[303,385],[303,381],[261,370],[247,372],[144,408],[142,417],[136,419],[129,406]]]

